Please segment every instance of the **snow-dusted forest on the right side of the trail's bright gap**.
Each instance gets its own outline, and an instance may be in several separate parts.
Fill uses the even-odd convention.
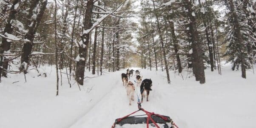
[[[222,61],[241,70],[243,78],[253,68],[255,0],[141,0],[141,5],[141,67],[166,70],[168,83],[170,70],[181,77],[192,70],[203,84],[204,69],[221,74]]]

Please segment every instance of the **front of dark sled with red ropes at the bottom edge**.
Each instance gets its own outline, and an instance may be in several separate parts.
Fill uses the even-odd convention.
[[[133,113],[128,114],[125,117],[116,119],[111,128],[144,128],[145,125],[147,126],[147,128],[149,128],[149,126],[151,126],[151,128],[179,128],[170,117],[155,114],[154,112],[148,112],[145,109],[141,108],[141,103],[139,102],[139,100],[138,108],[139,110],[134,111]],[[138,111],[145,112],[145,115],[131,116]],[[142,124],[144,126],[140,126]]]

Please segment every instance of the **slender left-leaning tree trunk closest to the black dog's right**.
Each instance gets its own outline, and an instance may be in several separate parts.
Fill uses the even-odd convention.
[[[154,0],[152,0],[152,1],[153,1],[153,5],[154,5],[154,11],[156,11],[155,2],[154,2]],[[156,12],[155,12],[155,16],[156,16],[157,28],[158,28],[159,37],[160,37],[160,43],[162,46],[163,56],[164,56],[164,60],[165,60],[165,70],[166,70],[167,81],[168,81],[168,84],[171,84],[169,68],[168,68],[168,63],[167,63],[167,59],[166,59],[166,52],[165,52],[165,47],[164,47],[164,41],[163,41],[163,37],[162,37],[162,31],[160,28],[159,19],[158,19],[158,15],[156,14]]]

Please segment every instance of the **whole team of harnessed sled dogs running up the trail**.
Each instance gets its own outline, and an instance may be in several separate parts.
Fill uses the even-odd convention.
[[[134,83],[130,81],[130,78],[134,76],[134,70],[129,68],[126,70],[126,74],[122,73],[122,82],[123,86],[126,88],[126,93],[129,98],[129,105],[131,105],[131,100],[134,100],[134,92],[135,92],[135,86]],[[147,93],[147,101],[148,101],[148,95],[149,91],[152,91],[152,80],[151,79],[144,79],[142,81],[142,76],[140,75],[139,70],[135,71],[136,74],[136,85],[140,85],[140,93],[141,93],[141,102],[143,102],[143,97],[145,97],[145,92]],[[129,82],[128,82],[129,81]]]

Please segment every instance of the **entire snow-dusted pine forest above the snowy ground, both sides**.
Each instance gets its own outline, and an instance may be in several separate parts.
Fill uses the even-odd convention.
[[[137,63],[168,83],[169,71],[191,71],[203,84],[222,61],[243,78],[256,63],[255,0],[139,0],[138,12],[136,1],[0,0],[0,81],[54,65],[57,88],[64,78],[84,85],[85,71]]]

